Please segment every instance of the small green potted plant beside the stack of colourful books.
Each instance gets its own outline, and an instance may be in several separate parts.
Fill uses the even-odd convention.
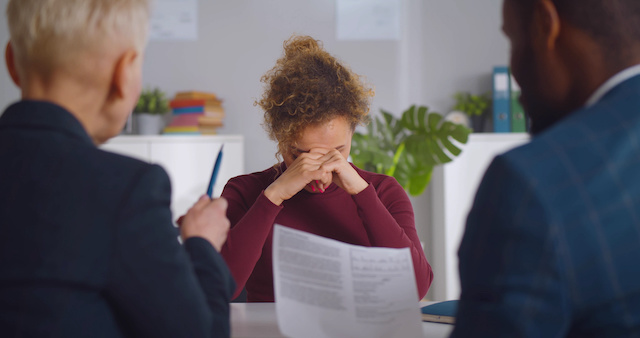
[[[169,112],[169,100],[158,88],[144,89],[133,110],[134,125],[140,135],[157,135],[164,128],[164,115]]]

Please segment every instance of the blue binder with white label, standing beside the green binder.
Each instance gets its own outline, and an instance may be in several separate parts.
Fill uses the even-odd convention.
[[[493,132],[511,132],[511,95],[509,92],[509,68],[493,68]]]

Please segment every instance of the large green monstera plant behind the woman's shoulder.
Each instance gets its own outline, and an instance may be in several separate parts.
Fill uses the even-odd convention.
[[[400,119],[381,113],[366,133],[354,133],[351,158],[359,168],[395,177],[413,196],[424,192],[436,165],[460,155],[452,140],[465,144],[471,133],[425,106],[411,106]]]

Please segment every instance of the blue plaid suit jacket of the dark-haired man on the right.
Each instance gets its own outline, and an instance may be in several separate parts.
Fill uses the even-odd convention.
[[[455,337],[640,336],[640,76],[498,156],[458,254]]]

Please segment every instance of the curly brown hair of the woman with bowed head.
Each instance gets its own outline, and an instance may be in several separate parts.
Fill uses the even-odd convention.
[[[310,125],[344,117],[355,130],[369,121],[373,89],[310,36],[286,40],[284,55],[261,81],[266,88],[256,104],[264,110],[269,137],[278,142],[276,157]]]

